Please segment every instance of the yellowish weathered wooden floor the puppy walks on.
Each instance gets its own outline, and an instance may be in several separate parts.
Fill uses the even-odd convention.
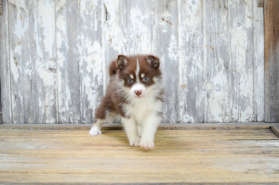
[[[262,130],[159,130],[155,148],[124,131],[0,129],[0,182],[279,182],[279,139]]]

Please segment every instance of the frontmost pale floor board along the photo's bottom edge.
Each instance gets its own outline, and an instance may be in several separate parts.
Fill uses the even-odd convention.
[[[94,167],[92,167],[94,168]],[[47,173],[0,173],[0,182],[3,179],[9,182],[41,182],[41,183],[56,183],[56,182],[102,182],[102,183],[173,183],[173,182],[191,182],[191,183],[203,183],[203,182],[213,182],[213,183],[233,183],[233,182],[278,182],[277,174],[234,174],[233,176],[228,174],[214,174],[210,173],[210,170],[206,169],[206,172],[202,175],[200,173],[179,173],[179,174],[123,174],[121,177],[118,174],[47,174]],[[23,176],[23,177],[22,177]],[[62,183],[61,183],[62,184]],[[239,183],[237,183],[239,184]]]

